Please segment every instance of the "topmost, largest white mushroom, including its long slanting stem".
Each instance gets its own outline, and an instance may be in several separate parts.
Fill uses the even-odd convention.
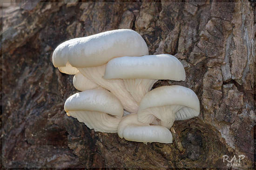
[[[105,80],[102,76],[106,63],[112,58],[143,55],[148,55],[143,38],[133,30],[121,29],[68,40],[54,50],[53,63],[55,67],[70,63],[72,69],[77,68],[88,79],[115,94],[128,112],[136,112],[138,104],[123,80]]]

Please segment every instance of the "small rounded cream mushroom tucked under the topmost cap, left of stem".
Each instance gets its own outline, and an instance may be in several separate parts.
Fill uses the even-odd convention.
[[[89,80],[86,76],[83,76],[80,72],[74,75],[73,84],[74,88],[80,91],[85,91],[99,87],[99,85]]]

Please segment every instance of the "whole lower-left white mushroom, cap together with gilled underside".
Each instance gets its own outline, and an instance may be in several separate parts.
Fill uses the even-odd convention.
[[[99,132],[117,132],[123,115],[121,102],[105,89],[92,89],[73,94],[64,109],[72,116]]]

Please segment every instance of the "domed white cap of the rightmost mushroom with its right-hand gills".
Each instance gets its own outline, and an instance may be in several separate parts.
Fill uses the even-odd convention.
[[[198,116],[200,113],[200,103],[193,90],[178,85],[162,86],[151,90],[142,98],[138,109],[138,120],[141,122],[146,121],[143,119],[145,114],[150,114],[145,113],[145,110],[148,108],[160,108],[171,105],[183,106],[181,109],[175,112],[175,120],[187,120]],[[161,116],[161,114],[168,113],[169,112],[162,112],[156,114]],[[158,119],[161,118],[158,117]]]

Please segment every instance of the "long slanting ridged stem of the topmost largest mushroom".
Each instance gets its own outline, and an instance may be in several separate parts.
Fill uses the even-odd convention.
[[[84,76],[88,77],[91,81],[100,85],[103,88],[112,92],[122,103],[125,110],[130,113],[137,112],[138,104],[133,99],[132,95],[125,88],[122,79],[104,79],[104,73],[107,64],[97,67],[77,68]]]

